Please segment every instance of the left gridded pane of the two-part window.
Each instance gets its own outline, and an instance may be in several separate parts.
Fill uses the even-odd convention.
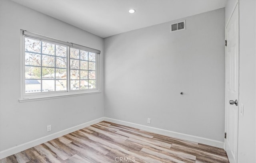
[[[67,91],[66,45],[24,37],[25,93]]]

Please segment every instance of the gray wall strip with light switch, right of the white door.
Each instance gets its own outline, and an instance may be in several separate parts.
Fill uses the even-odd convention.
[[[238,163],[256,163],[255,112],[256,112],[256,17],[255,0],[240,0],[240,63],[239,103],[244,104],[244,116],[239,114]]]

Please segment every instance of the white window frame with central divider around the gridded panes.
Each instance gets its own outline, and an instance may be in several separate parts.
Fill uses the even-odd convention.
[[[36,33],[28,32],[25,30],[20,30],[21,32],[21,98],[20,102],[27,101],[36,101],[36,100],[46,100],[52,98],[62,98],[67,96],[79,96],[85,94],[95,94],[100,93],[100,51],[96,49],[92,49],[89,47],[85,47],[82,45],[77,45],[74,43],[69,43],[65,41],[61,41],[58,39],[54,39],[51,37],[46,37],[44,35],[39,35]],[[35,93],[25,93],[25,37],[31,37],[32,39],[40,39],[42,41],[51,42],[56,45],[65,45],[68,47],[67,50],[67,90],[63,91],[50,91],[50,92],[35,92]],[[80,49],[88,52],[95,53],[95,69],[96,69],[96,88],[93,89],[83,89],[83,90],[71,90],[70,89],[70,48]],[[42,65],[41,65],[42,66]],[[42,78],[42,77],[41,77]],[[56,80],[56,79],[54,79]]]

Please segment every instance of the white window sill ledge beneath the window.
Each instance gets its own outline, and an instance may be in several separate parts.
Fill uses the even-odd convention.
[[[61,94],[61,95],[42,96],[42,97],[27,97],[27,98],[25,97],[25,98],[19,99],[19,102],[48,100],[48,99],[54,99],[54,98],[65,98],[65,97],[82,96],[82,95],[98,94],[98,93],[101,93],[101,91],[86,92],[86,93],[83,92],[83,93],[76,93],[76,94]]]

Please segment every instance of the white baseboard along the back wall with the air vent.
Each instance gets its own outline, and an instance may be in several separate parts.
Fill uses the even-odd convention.
[[[164,136],[176,137],[178,139],[184,139],[184,140],[188,140],[188,141],[194,141],[194,142],[197,142],[197,143],[211,145],[211,146],[214,146],[214,147],[224,148],[224,142],[216,141],[216,140],[212,140],[212,139],[207,139],[207,138],[204,138],[204,137],[198,137],[198,136],[192,136],[192,135],[182,134],[182,133],[178,133],[178,132],[172,132],[172,131],[163,130],[163,129],[160,129],[160,128],[153,128],[153,127],[150,127],[150,126],[134,124],[134,123],[131,123],[131,122],[116,120],[116,119],[107,118],[107,117],[105,117],[104,120],[107,121],[107,122],[112,122],[112,123],[116,123],[116,124],[120,124],[120,125],[124,125],[124,126],[129,126],[129,127],[132,127],[132,128],[138,128],[140,130],[145,130],[145,131],[148,131],[148,132],[154,132],[156,134],[160,134],[160,135],[164,135]]]

